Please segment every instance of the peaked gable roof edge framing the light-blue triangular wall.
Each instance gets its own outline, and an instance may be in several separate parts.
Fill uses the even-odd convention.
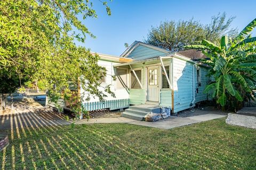
[[[160,48],[160,47],[156,47],[156,46],[153,46],[153,45],[150,45],[150,44],[146,44],[146,43],[142,43],[141,41],[134,41],[132,43],[132,45],[130,45],[125,51],[123,54],[120,55],[120,57],[127,57],[128,55],[130,55],[132,53],[132,51],[138,47],[139,45],[141,46],[145,46],[145,47],[148,47],[148,48],[152,48],[152,49],[155,49],[155,50],[158,50],[159,52],[163,52],[165,54],[171,54],[171,51],[169,50],[166,50],[166,49],[163,49],[163,48]]]

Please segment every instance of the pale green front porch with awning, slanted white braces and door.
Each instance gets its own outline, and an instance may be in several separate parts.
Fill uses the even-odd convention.
[[[116,87],[129,91],[131,105],[172,107],[172,56],[114,65]]]

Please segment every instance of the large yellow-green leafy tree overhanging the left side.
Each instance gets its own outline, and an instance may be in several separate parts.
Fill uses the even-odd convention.
[[[110,15],[107,3],[102,3]],[[106,75],[106,69],[97,64],[99,56],[74,43],[84,42],[87,35],[94,37],[82,23],[97,18],[92,6],[91,1],[81,0],[1,1],[0,69],[12,70],[1,74],[37,82],[49,90],[51,99],[70,97],[70,83],[87,91],[86,99],[114,96],[109,86],[105,92],[98,90],[99,80]],[[19,81],[20,86],[24,83]]]

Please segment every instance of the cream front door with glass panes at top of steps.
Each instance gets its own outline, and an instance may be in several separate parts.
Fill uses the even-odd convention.
[[[150,66],[147,69],[148,101],[158,101],[159,84],[158,84],[158,66]]]

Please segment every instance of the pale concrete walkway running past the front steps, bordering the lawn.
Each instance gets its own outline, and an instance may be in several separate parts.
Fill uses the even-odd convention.
[[[190,125],[194,123],[214,120],[215,118],[226,117],[226,115],[219,114],[204,114],[198,116],[191,117],[177,117],[171,116],[165,120],[160,120],[157,122],[145,122],[145,121],[136,121],[126,117],[118,117],[118,118],[95,118],[90,120],[79,120],[76,121],[76,124],[94,124],[94,123],[129,123],[141,126],[148,126],[153,128],[160,129],[172,129],[180,126]]]

